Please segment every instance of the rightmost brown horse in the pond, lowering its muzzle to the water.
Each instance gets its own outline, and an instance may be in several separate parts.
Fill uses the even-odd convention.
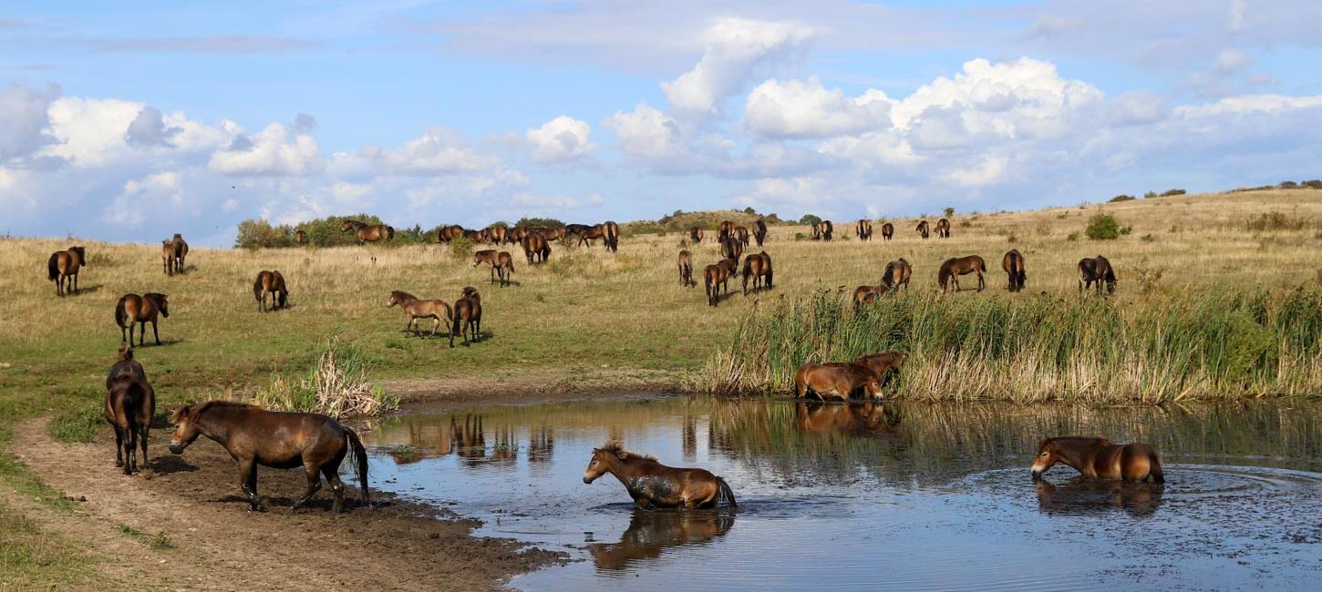
[[[1085,478],[1165,482],[1157,451],[1149,444],[1112,444],[1105,437],[1063,436],[1038,443],[1032,478],[1042,478],[1056,462],[1077,469]]]

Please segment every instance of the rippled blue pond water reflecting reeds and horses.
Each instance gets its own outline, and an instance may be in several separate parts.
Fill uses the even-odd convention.
[[[1318,589],[1322,403],[1079,408],[629,399],[411,412],[373,481],[580,562],[522,589]],[[1147,441],[1167,482],[1089,484],[1044,435]],[[607,440],[724,477],[738,510],[635,510]],[[438,558],[444,560],[444,558]]]

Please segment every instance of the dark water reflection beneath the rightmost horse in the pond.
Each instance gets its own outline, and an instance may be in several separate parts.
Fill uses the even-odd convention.
[[[1046,480],[1038,488],[1038,509],[1044,514],[1099,514],[1122,509],[1133,517],[1151,515],[1161,505],[1162,484],[1093,481],[1076,477],[1060,485]]]

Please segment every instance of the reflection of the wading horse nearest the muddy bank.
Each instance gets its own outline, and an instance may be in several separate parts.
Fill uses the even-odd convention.
[[[724,536],[734,523],[735,513],[727,510],[633,510],[629,530],[619,543],[594,544],[588,551],[598,571],[621,572],[636,562],[660,558],[668,548]]]

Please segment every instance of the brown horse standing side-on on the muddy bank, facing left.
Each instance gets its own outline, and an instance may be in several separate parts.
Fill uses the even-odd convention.
[[[368,493],[368,451],[358,435],[321,414],[267,411],[255,404],[208,400],[185,404],[171,414],[175,433],[169,451],[182,455],[197,436],[206,436],[225,447],[239,464],[239,488],[249,500],[249,510],[266,510],[256,494],[256,466],[292,469],[303,466],[308,489],[290,511],[303,507],[321,489],[325,476],[334,492],[332,511],[344,509],[344,484],[340,462],[353,452],[358,468],[362,503],[371,506]]]

